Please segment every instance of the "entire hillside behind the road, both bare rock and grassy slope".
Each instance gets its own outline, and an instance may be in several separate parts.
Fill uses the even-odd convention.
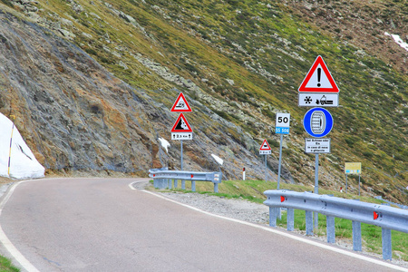
[[[228,179],[242,167],[263,179],[264,138],[276,179],[275,113],[290,112],[285,179],[313,184],[297,87],[320,54],[342,105],[321,186],[344,186],[345,161],[361,161],[364,193],[406,203],[408,51],[390,34],[407,42],[407,6],[365,2],[2,0],[0,112],[49,171],[145,175],[180,168],[170,107],[183,92],[195,136],[185,168],[218,170],[216,154]]]

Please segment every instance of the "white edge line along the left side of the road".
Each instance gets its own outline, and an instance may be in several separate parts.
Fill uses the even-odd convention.
[[[7,192],[5,195],[5,199],[0,203],[0,216],[2,214],[3,209],[5,208],[5,204],[7,203],[8,199],[12,196],[13,192],[15,191],[15,188],[20,184],[23,183],[27,180],[20,181],[15,183],[12,188]],[[5,246],[5,249],[10,252],[10,254],[15,258],[17,262],[20,263],[21,267],[23,267],[25,270],[30,271],[30,272],[39,272],[37,268],[35,268],[24,256],[21,254],[20,251],[18,251],[17,248],[15,248],[15,245],[7,238],[5,235],[5,232],[3,231],[3,228],[0,226],[0,241],[2,244]]]

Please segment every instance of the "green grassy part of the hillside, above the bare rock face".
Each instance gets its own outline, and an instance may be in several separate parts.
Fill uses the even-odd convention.
[[[322,185],[338,187],[338,180],[345,179],[344,162],[362,161],[365,190],[406,203],[406,73],[393,69],[381,57],[359,53],[359,47],[306,23],[296,10],[280,2],[269,6],[249,0],[111,2],[113,8],[135,18],[143,30],[112,13],[104,2],[78,2],[83,5],[82,13],[75,13],[72,5],[62,0],[40,1],[39,7],[43,9],[40,14],[50,21],[58,21],[55,15],[72,21],[73,26],[63,27],[76,34],[75,44],[166,106],[173,102],[167,91],[174,84],[151,73],[132,54],[141,53],[169,67],[232,107],[237,107],[235,102],[244,105],[243,111],[265,122],[265,129],[231,112],[219,114],[258,139],[266,137],[276,144],[270,131],[274,112],[291,112],[292,133],[284,163],[295,180],[306,184],[313,180],[313,158],[303,153],[307,135],[301,123],[306,108],[297,107],[296,89],[316,55],[321,54],[340,87],[343,105],[330,111],[335,128],[330,134],[332,153],[321,159]],[[83,33],[92,34],[92,38]],[[120,61],[129,69],[123,69]]]

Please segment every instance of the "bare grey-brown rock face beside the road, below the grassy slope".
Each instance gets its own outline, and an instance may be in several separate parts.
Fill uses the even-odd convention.
[[[121,82],[80,48],[36,24],[2,12],[0,21],[0,112],[16,116],[16,126],[46,169],[146,175],[152,167],[180,168],[180,143],[171,141],[169,153],[160,147],[158,138],[170,139],[175,118],[160,99]],[[179,91],[171,92],[175,99]],[[263,179],[263,161],[254,156],[257,143],[205,105],[192,103],[200,122],[195,139],[184,145],[184,169],[219,170],[213,153],[225,160],[228,179],[240,177],[242,167],[248,178]],[[211,130],[225,136],[218,139]],[[269,175],[276,179],[274,172]]]

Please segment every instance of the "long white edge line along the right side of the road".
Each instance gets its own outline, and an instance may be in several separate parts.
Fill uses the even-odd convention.
[[[135,189],[135,188],[133,187],[133,185],[132,185],[132,184],[135,183],[135,182],[138,182],[138,181],[131,182],[131,184],[129,184],[129,187],[130,187],[131,189],[133,189],[133,190],[138,190],[138,189]],[[388,268],[393,268],[393,269],[395,269],[395,270],[408,272],[408,269],[407,269],[407,268],[398,267],[398,266],[395,266],[395,265],[393,265],[393,264],[386,263],[386,262],[384,262],[384,261],[382,261],[382,260],[379,260],[379,259],[375,259],[375,258],[372,258],[372,257],[365,257],[365,256],[362,256],[362,255],[359,255],[359,254],[355,254],[354,252],[347,251],[347,250],[345,250],[345,249],[335,248],[335,247],[331,247],[331,246],[329,246],[329,245],[321,244],[321,243],[318,243],[318,242],[316,242],[316,241],[309,240],[309,239],[306,239],[306,238],[296,237],[296,236],[291,235],[291,234],[289,234],[289,233],[280,231],[280,230],[278,230],[278,229],[276,229],[276,228],[267,228],[267,227],[263,227],[263,226],[260,226],[260,225],[257,225],[257,224],[253,224],[253,223],[249,223],[249,222],[246,222],[246,221],[242,221],[242,220],[239,220],[239,219],[230,219],[230,218],[227,218],[227,217],[224,217],[224,216],[220,216],[220,215],[218,215],[218,214],[213,214],[213,213],[210,213],[210,212],[208,212],[208,211],[205,211],[205,210],[202,210],[202,209],[198,209],[198,208],[189,206],[189,205],[187,205],[187,204],[181,203],[181,202],[179,202],[179,201],[177,201],[177,200],[168,199],[168,198],[166,198],[166,197],[163,197],[163,196],[161,196],[161,195],[159,195],[159,194],[156,194],[156,193],[151,192],[151,191],[146,190],[146,189],[139,189],[139,190],[141,190],[141,191],[143,191],[143,192],[146,192],[146,193],[149,193],[149,194],[151,194],[151,195],[153,195],[153,196],[156,196],[156,197],[158,197],[158,198],[160,198],[160,199],[168,200],[168,201],[170,201],[170,202],[179,204],[179,205],[184,206],[184,207],[189,208],[189,209],[193,209],[193,210],[199,211],[199,212],[201,212],[201,213],[204,213],[204,214],[209,215],[209,216],[212,216],[212,217],[216,217],[216,218],[219,218],[219,219],[225,219],[225,220],[228,220],[228,221],[236,222],[236,223],[239,223],[239,224],[242,224],[242,225],[246,225],[246,226],[250,226],[250,227],[254,227],[254,228],[259,228],[259,229],[262,229],[262,230],[266,230],[266,231],[269,231],[269,232],[273,232],[273,233],[275,233],[275,234],[277,234],[277,235],[281,235],[281,236],[284,236],[284,237],[287,237],[287,238],[292,238],[292,239],[294,239],[294,240],[297,240],[297,241],[300,241],[300,242],[303,242],[303,243],[306,243],[306,244],[309,244],[309,245],[312,245],[312,246],[316,246],[316,247],[319,247],[319,248],[325,248],[325,249],[327,249],[327,250],[331,250],[331,251],[334,251],[334,252],[336,252],[336,253],[343,254],[343,255],[345,255],[345,256],[355,257],[355,258],[362,259],[362,260],[364,260],[364,261],[371,262],[371,263],[373,263],[373,264],[380,265],[380,266],[383,266],[383,267],[388,267]]]

